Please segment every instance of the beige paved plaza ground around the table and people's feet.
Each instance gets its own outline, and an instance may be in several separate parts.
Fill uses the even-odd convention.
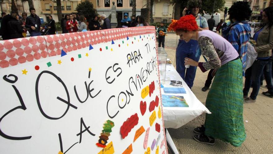
[[[165,50],[168,58],[174,64],[177,36],[168,34],[165,38]],[[202,56],[201,56],[202,57]],[[200,61],[204,62],[203,58]],[[208,71],[203,73],[199,68],[196,71],[196,77],[192,91],[195,96],[205,105],[208,91],[203,92],[201,88],[207,79]],[[193,129],[204,124],[205,114],[200,115],[181,128],[168,131],[175,143],[177,150],[181,154],[272,154],[273,153],[273,98],[262,95],[267,91],[266,82],[263,82],[256,103],[244,104],[244,126],[247,138],[241,147],[233,147],[229,143],[217,140],[214,145],[196,142],[192,136]],[[252,91],[252,88],[250,89]],[[250,94],[249,94],[250,95]],[[225,98],[223,98],[225,99]],[[169,151],[170,153],[170,151]]]

